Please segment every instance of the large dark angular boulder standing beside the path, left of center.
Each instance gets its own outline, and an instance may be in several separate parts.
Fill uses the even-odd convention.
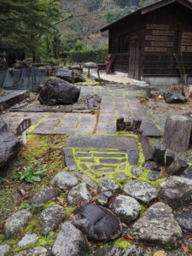
[[[80,90],[65,80],[50,78],[40,89],[38,100],[43,105],[65,105],[78,102]]]

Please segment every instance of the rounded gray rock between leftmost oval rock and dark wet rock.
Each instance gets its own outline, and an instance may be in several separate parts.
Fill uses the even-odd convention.
[[[39,216],[42,234],[46,236],[49,231],[56,230],[65,217],[64,209],[59,205],[53,205],[46,208]]]

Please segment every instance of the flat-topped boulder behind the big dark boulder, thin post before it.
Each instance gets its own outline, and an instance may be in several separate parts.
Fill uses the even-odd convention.
[[[64,79],[69,83],[73,82],[73,76],[75,83],[85,82],[85,79],[79,74],[79,72],[76,70],[70,70],[67,67],[55,67],[54,74],[56,78]]]

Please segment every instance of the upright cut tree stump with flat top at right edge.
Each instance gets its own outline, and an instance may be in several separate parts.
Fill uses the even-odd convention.
[[[185,116],[171,116],[166,118],[164,143],[166,148],[176,152],[189,149],[192,132],[192,119]]]

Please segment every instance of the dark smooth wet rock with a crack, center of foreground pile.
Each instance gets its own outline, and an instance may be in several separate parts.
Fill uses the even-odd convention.
[[[112,241],[122,232],[119,218],[96,204],[87,204],[75,211],[73,224],[91,241]]]

